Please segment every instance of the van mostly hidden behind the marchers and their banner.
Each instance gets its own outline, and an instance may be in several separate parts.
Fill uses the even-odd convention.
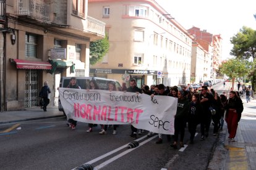
[[[62,77],[59,83],[59,87],[67,87],[69,85],[71,77]],[[116,83],[116,89],[120,89],[121,85],[116,79],[106,79],[106,78],[97,78],[97,77],[75,77],[77,79],[77,84],[81,87],[81,89],[88,89],[89,83],[92,79],[95,79],[96,83],[100,87],[101,90],[108,89],[109,81],[114,81]],[[63,111],[64,115],[66,116],[62,105],[61,100],[59,99],[59,111]]]

